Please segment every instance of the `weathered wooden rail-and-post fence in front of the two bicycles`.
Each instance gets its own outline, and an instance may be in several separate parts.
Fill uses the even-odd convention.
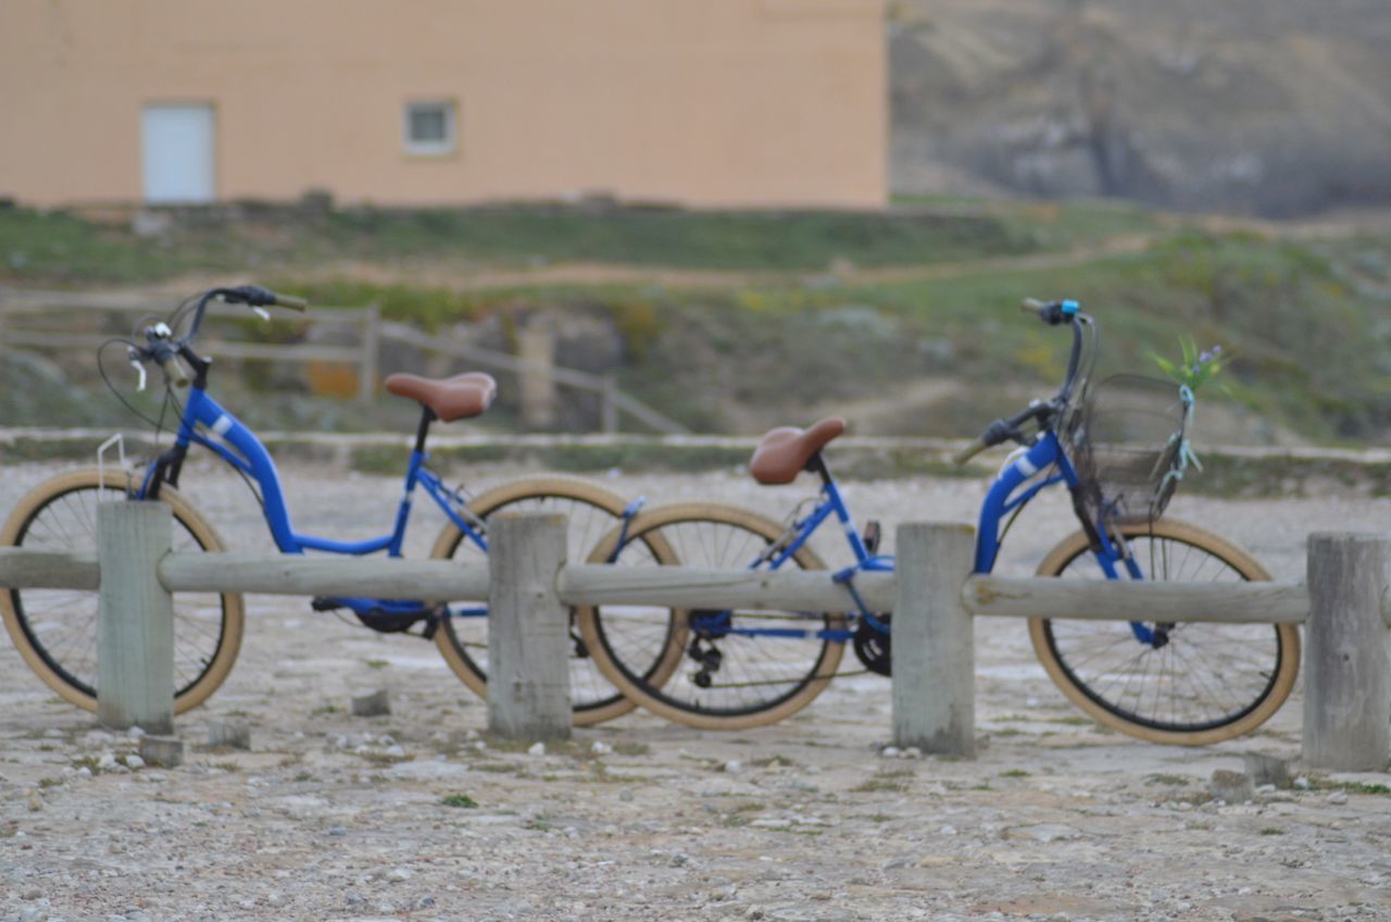
[[[140,503],[104,504],[110,517]],[[510,518],[510,517],[509,517]],[[544,592],[534,567],[554,553],[554,517],[519,515],[549,522],[522,528],[499,542],[485,565],[442,560],[384,557],[321,558],[291,554],[166,553],[154,564],[157,582],[172,592],[259,592],[275,595],[346,595],[488,600],[491,630],[504,630],[536,611],[549,610],[540,596],[552,593],[559,610],[574,604],[651,604],[664,607],[764,607],[789,611],[850,611],[849,592],[826,571],[750,572],[693,567],[632,568],[552,561],[555,575]],[[166,525],[167,526],[167,525]],[[15,547],[0,549],[0,585],[11,588],[71,588],[99,591],[103,617],[129,603],[107,597],[111,586],[132,579],[103,574],[149,570],[150,543],[136,540],[147,524],[132,519],[129,542],[107,539],[114,525],[103,525],[100,558]],[[536,533],[536,539],[529,535]],[[110,532],[115,533],[115,532]],[[145,532],[140,532],[145,533]],[[156,542],[157,545],[157,542]],[[166,545],[167,546],[167,545]],[[894,611],[893,701],[894,738],[925,751],[971,755],[974,748],[974,617],[1081,617],[1120,621],[1285,623],[1309,621],[1305,642],[1305,760],[1317,767],[1383,769],[1391,747],[1391,611],[1388,570],[1391,539],[1381,536],[1312,535],[1309,579],[1301,582],[1166,584],[1061,581],[971,575],[974,532],[964,525],[900,525],[897,572],[862,574],[855,588],[875,610]],[[145,549],[145,550],[140,550]],[[515,558],[515,560],[509,560]],[[146,563],[142,564],[140,561]],[[513,575],[520,574],[520,575]],[[530,589],[512,585],[522,581]],[[506,582],[508,585],[501,585]],[[124,591],[128,592],[128,591]],[[533,611],[523,616],[522,609]],[[1312,616],[1310,616],[1312,613]],[[556,616],[563,618],[563,614]],[[552,628],[556,625],[551,625]],[[563,627],[563,625],[562,625]],[[541,631],[540,634],[545,634]],[[540,636],[538,634],[538,636]],[[549,631],[556,634],[556,631]],[[563,632],[562,632],[563,634]],[[106,635],[103,635],[106,636]],[[501,636],[501,635],[499,635]],[[529,635],[530,636],[530,635]],[[552,638],[554,639],[554,638]],[[563,643],[563,638],[562,638]],[[99,660],[124,656],[122,646],[103,645]],[[520,648],[516,648],[520,650]],[[548,653],[554,656],[554,649]],[[513,656],[520,655],[515,653]],[[505,648],[490,645],[490,656],[504,656],[490,671],[508,669]],[[554,678],[555,670],[542,670]],[[104,673],[103,673],[104,674]],[[502,674],[502,673],[498,673]],[[554,689],[530,692],[531,680],[513,670],[510,699],[520,712],[490,720],[502,731],[534,733],[556,727]],[[520,682],[520,685],[519,685]],[[520,691],[519,691],[520,689]],[[102,687],[102,694],[107,694]],[[537,702],[549,702],[538,705]],[[542,708],[544,713],[531,713]],[[563,721],[569,720],[568,699]],[[545,710],[548,709],[548,710]],[[128,708],[115,709],[128,713]],[[157,721],[163,714],[146,717]],[[171,719],[171,714],[170,714]],[[524,728],[524,730],[520,730]]]

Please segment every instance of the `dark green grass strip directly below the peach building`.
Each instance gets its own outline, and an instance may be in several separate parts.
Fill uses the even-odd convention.
[[[555,262],[823,272],[1022,253],[1040,244],[993,214],[502,208],[184,210],[153,237],[67,212],[0,209],[0,279],[147,281],[188,272],[264,273],[330,259],[440,258],[469,266]]]

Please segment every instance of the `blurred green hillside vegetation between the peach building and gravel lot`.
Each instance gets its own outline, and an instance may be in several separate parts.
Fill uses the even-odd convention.
[[[1066,334],[1015,305],[1072,297],[1100,320],[1103,370],[1157,372],[1150,355],[1177,355],[1180,336],[1237,352],[1224,391],[1203,394],[1207,440],[1391,442],[1391,245],[1352,228],[1295,235],[1106,203],[971,201],[887,214],[243,208],[160,220],[136,234],[3,210],[0,284],[192,292],[256,279],[320,305],[376,302],[494,348],[547,315],[558,361],[618,373],[698,432],[844,412],[861,433],[944,436],[975,435],[1056,384]],[[89,355],[51,359],[6,355],[6,423],[121,418],[113,400],[83,398],[96,387]],[[385,370],[416,361],[388,355]],[[362,411],[250,364],[220,384],[238,377],[274,380],[275,400],[228,400],[262,425],[409,426],[392,401]],[[591,404],[569,401],[562,425],[593,425]],[[516,425],[506,401],[490,422]]]

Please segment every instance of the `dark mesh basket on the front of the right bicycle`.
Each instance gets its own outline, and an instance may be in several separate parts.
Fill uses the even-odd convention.
[[[1150,522],[1184,472],[1192,396],[1174,384],[1116,375],[1089,384],[1071,422],[1081,503],[1093,522]]]

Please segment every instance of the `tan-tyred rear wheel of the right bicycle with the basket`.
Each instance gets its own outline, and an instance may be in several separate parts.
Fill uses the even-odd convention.
[[[746,570],[785,531],[741,508],[659,507],[612,532],[591,558],[661,565],[651,557],[659,536],[683,567]],[[825,567],[810,547],[789,565]],[[668,720],[708,730],[759,727],[810,705],[835,675],[847,634],[842,614],[762,609],[583,606],[576,617],[594,662],[625,695]]]

